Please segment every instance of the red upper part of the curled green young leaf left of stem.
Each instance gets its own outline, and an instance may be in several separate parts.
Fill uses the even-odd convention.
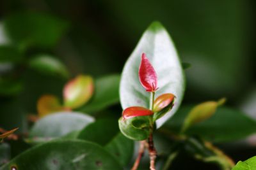
[[[152,110],[148,110],[147,108],[143,108],[140,106],[132,106],[130,108],[126,108],[123,111],[123,118],[132,118],[132,117],[141,117],[141,116],[149,116],[153,115],[154,112]]]

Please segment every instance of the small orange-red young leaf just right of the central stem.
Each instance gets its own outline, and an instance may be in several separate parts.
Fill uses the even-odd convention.
[[[166,108],[169,104],[173,103],[175,96],[171,93],[162,94],[158,96],[157,99],[154,101],[154,112],[158,112]]]

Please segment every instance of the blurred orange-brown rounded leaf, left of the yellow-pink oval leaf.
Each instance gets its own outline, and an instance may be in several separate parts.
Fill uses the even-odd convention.
[[[44,95],[40,97],[36,106],[39,117],[44,117],[49,113],[63,110],[59,99],[52,95]]]

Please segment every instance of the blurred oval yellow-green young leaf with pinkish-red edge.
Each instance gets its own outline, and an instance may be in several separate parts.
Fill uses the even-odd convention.
[[[79,75],[68,81],[63,89],[64,105],[78,108],[89,101],[93,95],[94,85],[91,76]]]

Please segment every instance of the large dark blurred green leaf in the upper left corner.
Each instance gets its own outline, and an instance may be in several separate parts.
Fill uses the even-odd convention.
[[[51,47],[67,30],[68,24],[46,13],[24,11],[4,19],[4,30],[13,43],[21,46]]]

